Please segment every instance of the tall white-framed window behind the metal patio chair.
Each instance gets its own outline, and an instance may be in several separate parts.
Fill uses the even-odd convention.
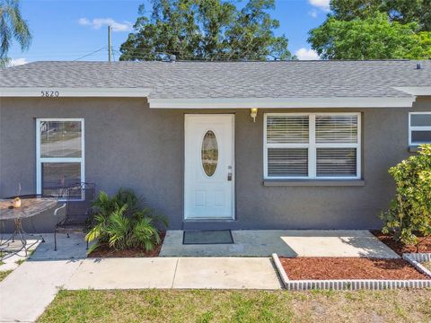
[[[36,160],[39,194],[84,182],[84,119],[36,119]]]

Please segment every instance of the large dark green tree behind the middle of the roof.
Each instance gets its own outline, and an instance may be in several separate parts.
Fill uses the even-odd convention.
[[[135,32],[120,47],[120,60],[266,60],[291,58],[279,22],[268,10],[274,0],[250,0],[241,10],[225,0],[153,0],[145,16],[139,7]]]

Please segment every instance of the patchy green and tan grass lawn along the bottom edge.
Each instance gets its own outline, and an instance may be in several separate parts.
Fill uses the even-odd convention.
[[[428,322],[431,290],[60,291],[39,322]]]

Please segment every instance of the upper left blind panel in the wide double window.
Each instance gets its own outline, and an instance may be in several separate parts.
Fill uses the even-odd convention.
[[[268,144],[308,144],[308,116],[269,116],[267,118]]]

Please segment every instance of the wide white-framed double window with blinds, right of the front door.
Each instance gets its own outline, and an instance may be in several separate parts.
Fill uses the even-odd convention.
[[[265,179],[360,179],[360,113],[267,113]]]

